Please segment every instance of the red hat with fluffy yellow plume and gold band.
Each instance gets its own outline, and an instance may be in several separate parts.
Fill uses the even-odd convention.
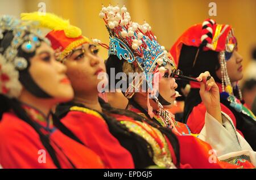
[[[20,16],[23,20],[33,20],[38,22],[40,27],[52,30],[46,37],[51,41],[52,48],[56,50],[57,60],[61,62],[64,62],[77,46],[89,42],[87,37],[82,36],[80,28],[71,25],[69,20],[62,19],[55,14],[40,15],[38,12],[32,12],[22,13]]]

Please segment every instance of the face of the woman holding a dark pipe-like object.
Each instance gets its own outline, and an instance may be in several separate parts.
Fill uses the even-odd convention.
[[[172,66],[167,64],[165,68],[166,72],[159,82],[159,93],[166,101],[171,103],[171,105],[164,106],[164,108],[171,108],[176,98],[175,89],[177,88],[177,83],[175,82],[174,78],[170,77]]]

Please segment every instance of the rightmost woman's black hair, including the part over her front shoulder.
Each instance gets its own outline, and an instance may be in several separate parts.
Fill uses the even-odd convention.
[[[221,80],[216,75],[216,70],[220,68],[218,52],[214,52],[212,50],[208,50],[207,52],[200,51],[196,59],[195,67],[192,68],[192,63],[193,59],[195,59],[196,51],[196,47],[183,45],[181,48],[178,68],[183,71],[185,75],[193,77],[197,77],[201,72],[209,71],[214,80],[218,83],[221,83]],[[179,81],[177,81],[177,84],[179,84]],[[185,106],[182,119],[183,123],[187,123],[187,119],[193,108],[202,102],[199,91],[199,88],[191,88],[188,96],[185,98]],[[234,95],[236,95],[235,91]],[[228,100],[221,98],[220,102],[232,111],[236,118],[237,129],[242,131],[245,139],[255,151],[256,143],[254,137],[256,134],[256,122],[254,119],[243,113],[237,112],[234,108],[232,108],[232,106],[230,106],[230,102]]]

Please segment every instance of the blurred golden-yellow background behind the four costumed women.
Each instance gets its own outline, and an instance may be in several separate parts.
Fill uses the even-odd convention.
[[[238,39],[238,51],[243,56],[243,97],[250,102],[256,96],[256,0],[0,0],[0,14],[19,17],[21,12],[38,11],[42,2],[47,12],[69,19],[71,24],[82,29],[84,36],[98,38],[106,44],[108,32],[98,14],[102,5],[109,3],[113,6],[125,4],[134,22],[142,24],[146,20],[167,50],[181,33],[204,19],[232,25]],[[217,16],[209,16],[210,2],[216,3]],[[101,48],[100,55],[106,59],[107,50]],[[256,100],[254,106],[256,112]]]

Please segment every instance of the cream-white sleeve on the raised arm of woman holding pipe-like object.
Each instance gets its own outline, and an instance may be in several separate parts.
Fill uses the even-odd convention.
[[[256,152],[236,131],[231,118],[223,112],[222,125],[212,115],[205,113],[205,125],[198,138],[212,146],[219,160],[247,155],[256,166]]]

